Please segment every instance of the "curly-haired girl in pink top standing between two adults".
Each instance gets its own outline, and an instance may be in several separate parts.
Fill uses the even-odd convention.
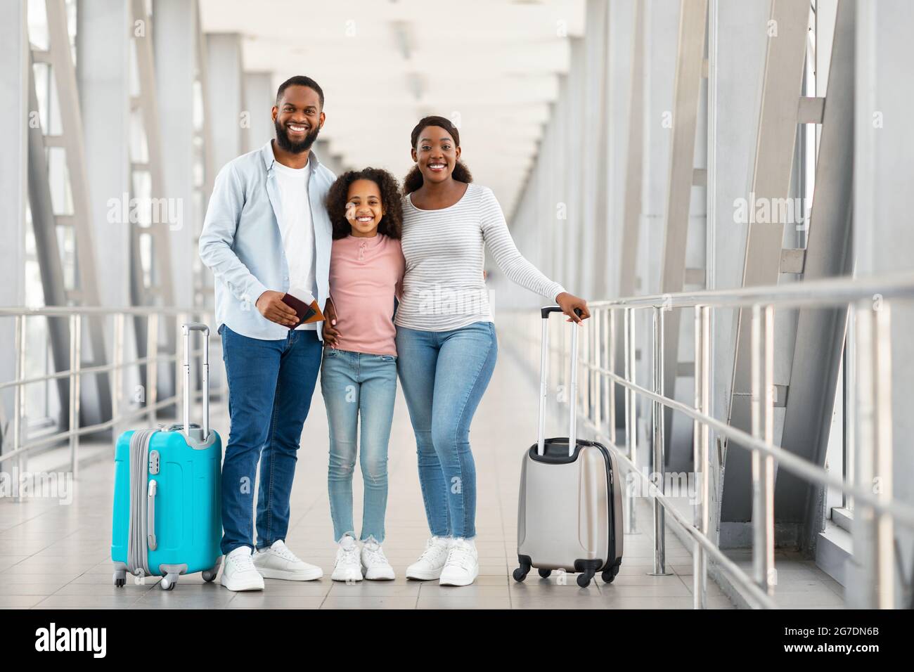
[[[330,516],[339,544],[331,578],[361,581],[364,574],[368,580],[389,580],[394,571],[381,543],[388,502],[388,439],[397,393],[394,298],[404,269],[397,180],[377,168],[349,171],[330,187],[326,208],[333,224],[333,305],[324,322],[321,389],[330,424]],[[365,484],[361,551],[352,520],[360,415]]]

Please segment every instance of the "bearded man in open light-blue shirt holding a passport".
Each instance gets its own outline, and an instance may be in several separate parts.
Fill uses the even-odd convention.
[[[225,165],[200,234],[216,277],[216,321],[228,376],[231,428],[222,466],[222,585],[263,590],[263,578],[324,575],[285,545],[296,452],[323,349],[320,323],[297,324],[290,287],[329,293],[331,225],[324,196],[334,174],[311,145],[324,125],[324,92],[308,77],[280,86],[276,139]],[[257,543],[253,489],[260,460]]]

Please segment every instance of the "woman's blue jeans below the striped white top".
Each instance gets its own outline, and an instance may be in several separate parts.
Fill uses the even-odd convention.
[[[425,516],[436,537],[476,536],[470,423],[497,355],[491,322],[451,331],[397,327],[397,368],[416,433]]]

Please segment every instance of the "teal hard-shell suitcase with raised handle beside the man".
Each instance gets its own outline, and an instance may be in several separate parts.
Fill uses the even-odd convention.
[[[181,574],[213,581],[222,561],[222,440],[209,429],[209,327],[182,327],[184,424],[131,430],[114,450],[114,585],[161,576],[170,591]],[[190,334],[203,333],[203,426],[190,423]]]

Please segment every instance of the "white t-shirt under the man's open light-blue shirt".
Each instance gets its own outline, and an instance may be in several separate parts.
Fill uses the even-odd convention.
[[[303,287],[317,295],[314,287],[314,222],[308,198],[308,177],[311,162],[303,168],[290,168],[279,161],[273,164],[282,201],[282,247],[289,262],[289,286]],[[316,329],[317,323],[300,325],[298,329]]]

